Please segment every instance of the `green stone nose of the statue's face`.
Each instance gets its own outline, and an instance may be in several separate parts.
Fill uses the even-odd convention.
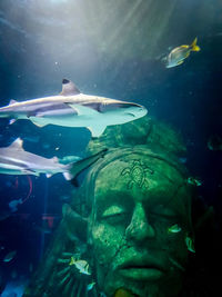
[[[149,224],[145,211],[141,204],[137,204],[130,225],[125,230],[128,239],[143,241],[148,238],[153,238],[155,231],[153,227]]]

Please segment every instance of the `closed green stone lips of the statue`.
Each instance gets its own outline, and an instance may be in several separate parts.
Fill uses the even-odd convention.
[[[119,266],[119,273],[133,280],[158,280],[164,275],[164,268],[154,259],[133,258]]]

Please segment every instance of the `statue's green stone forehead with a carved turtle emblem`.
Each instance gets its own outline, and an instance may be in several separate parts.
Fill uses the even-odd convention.
[[[141,189],[155,188],[157,184],[173,187],[184,181],[181,174],[164,160],[132,154],[105,165],[98,174],[95,185]]]

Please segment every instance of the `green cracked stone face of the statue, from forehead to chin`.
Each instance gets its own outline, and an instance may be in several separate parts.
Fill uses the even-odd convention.
[[[107,296],[176,296],[188,260],[189,192],[161,160],[132,155],[98,175],[90,235],[97,283]]]

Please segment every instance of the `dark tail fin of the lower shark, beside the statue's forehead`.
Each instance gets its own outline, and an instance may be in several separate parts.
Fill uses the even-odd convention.
[[[87,157],[73,164],[69,164],[68,171],[63,172],[64,178],[67,180],[70,180],[74,187],[79,187],[79,181],[78,181],[79,175],[85,169],[88,169],[97,160],[99,160],[100,158],[103,158],[107,151],[108,149],[105,148],[90,157]]]

